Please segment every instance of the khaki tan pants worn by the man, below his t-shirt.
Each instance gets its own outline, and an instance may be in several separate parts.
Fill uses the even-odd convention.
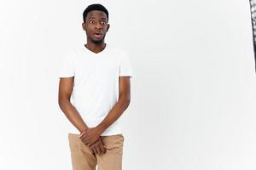
[[[106,153],[94,154],[79,139],[79,134],[68,133],[69,147],[71,151],[73,170],[121,170],[124,136],[116,134],[102,136],[102,143],[106,145]]]

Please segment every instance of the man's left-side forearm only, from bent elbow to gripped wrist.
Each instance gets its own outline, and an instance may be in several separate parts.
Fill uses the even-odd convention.
[[[60,100],[59,105],[61,107],[61,111],[63,111],[63,113],[67,116],[69,122],[71,122],[73,126],[79,130],[80,133],[84,132],[84,130],[88,128],[80,116],[79,111],[74,108],[69,100]]]

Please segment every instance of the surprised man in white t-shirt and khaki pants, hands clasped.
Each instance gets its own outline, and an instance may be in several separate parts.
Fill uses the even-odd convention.
[[[120,170],[124,136],[117,120],[130,104],[131,63],[104,42],[105,7],[91,4],[83,20],[87,43],[63,59],[59,72],[61,111],[79,131],[68,133],[73,170]]]

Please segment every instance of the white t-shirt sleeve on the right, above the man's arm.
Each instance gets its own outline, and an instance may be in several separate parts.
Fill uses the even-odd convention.
[[[131,60],[126,52],[120,55],[119,77],[133,77]]]

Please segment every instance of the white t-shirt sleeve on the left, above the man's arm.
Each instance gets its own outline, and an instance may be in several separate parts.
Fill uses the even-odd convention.
[[[74,77],[75,69],[73,62],[73,54],[67,54],[60,61],[60,67],[58,70],[58,77]]]

